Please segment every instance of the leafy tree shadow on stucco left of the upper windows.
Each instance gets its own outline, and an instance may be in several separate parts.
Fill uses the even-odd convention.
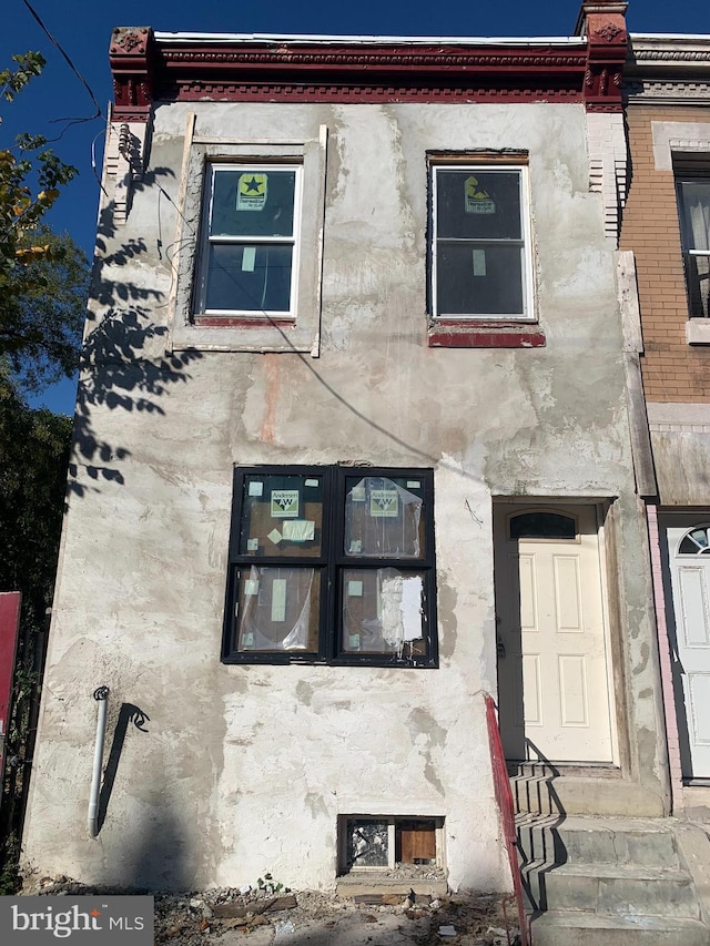
[[[154,169],[134,184],[134,190],[158,186],[162,191],[160,179],[168,175],[173,176],[170,169]],[[74,454],[69,467],[69,494],[75,496],[84,496],[91,488],[88,479],[97,484],[102,479],[124,482],[120,462],[130,451],[121,444],[102,439],[94,427],[94,409],[164,415],[156,398],[171,385],[189,382],[187,366],[202,357],[192,349],[179,354],[166,350],[168,328],[155,324],[156,314],[161,322],[165,321],[164,294],[122,278],[121,267],[140,262],[149,246],[140,237],[111,248],[118,232],[111,203],[103,207],[99,220],[91,281],[97,312],[89,313],[80,362]],[[164,258],[160,238],[151,252]],[[98,490],[98,485],[94,488]]]

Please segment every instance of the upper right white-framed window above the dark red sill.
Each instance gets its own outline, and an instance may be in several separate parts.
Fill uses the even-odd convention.
[[[532,318],[527,167],[432,169],[437,318]]]

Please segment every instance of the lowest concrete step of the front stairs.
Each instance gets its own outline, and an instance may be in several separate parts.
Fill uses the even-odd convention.
[[[535,946],[708,946],[710,930],[693,919],[599,916],[549,911],[532,920]]]

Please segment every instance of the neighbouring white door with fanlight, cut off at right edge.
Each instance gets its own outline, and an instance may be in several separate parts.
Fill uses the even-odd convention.
[[[668,614],[684,779],[710,779],[710,517],[668,517]],[[670,609],[669,609],[670,610]]]

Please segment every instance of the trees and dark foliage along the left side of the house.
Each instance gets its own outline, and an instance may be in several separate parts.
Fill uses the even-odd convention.
[[[0,102],[13,102],[44,65],[33,52],[13,61],[0,71]],[[0,591],[22,593],[1,786],[0,894],[13,893],[18,883],[72,427],[69,417],[31,409],[24,395],[70,377],[79,362],[89,265],[73,241],[45,221],[75,173],[40,135],[0,145]]]

